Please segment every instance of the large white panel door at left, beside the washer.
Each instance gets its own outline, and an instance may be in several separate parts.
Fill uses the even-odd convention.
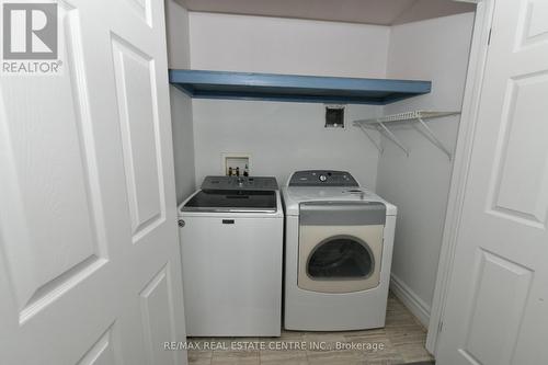
[[[0,364],[185,364],[163,2],[66,0],[2,76]]]

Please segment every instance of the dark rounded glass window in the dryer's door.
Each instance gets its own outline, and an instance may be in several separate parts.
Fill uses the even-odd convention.
[[[310,253],[307,274],[321,280],[365,280],[375,269],[369,246],[359,238],[335,236],[320,242]]]

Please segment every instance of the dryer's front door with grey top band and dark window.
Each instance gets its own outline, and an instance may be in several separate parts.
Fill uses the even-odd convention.
[[[385,223],[378,209],[386,212],[384,205],[378,204],[329,204],[327,207],[302,204],[297,285],[321,293],[377,287]]]

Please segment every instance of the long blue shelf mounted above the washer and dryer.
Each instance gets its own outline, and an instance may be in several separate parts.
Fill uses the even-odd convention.
[[[195,99],[385,105],[426,94],[431,81],[170,70],[170,83]]]

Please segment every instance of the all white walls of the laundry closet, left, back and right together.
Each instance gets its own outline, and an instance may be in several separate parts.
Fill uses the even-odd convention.
[[[198,7],[167,1],[172,72],[431,82],[430,92],[370,104],[253,95],[191,98],[192,87],[178,89],[172,82],[170,88],[179,203],[206,175],[225,174],[227,156],[249,158],[251,175],[275,176],[281,186],[297,170],[351,171],[362,186],[398,207],[390,289],[429,327],[475,5],[415,3],[389,21],[364,24],[182,7],[189,4]],[[331,107],[344,109],[343,127],[326,125]],[[439,115],[431,118],[421,111]],[[401,115],[410,112],[418,113]]]

